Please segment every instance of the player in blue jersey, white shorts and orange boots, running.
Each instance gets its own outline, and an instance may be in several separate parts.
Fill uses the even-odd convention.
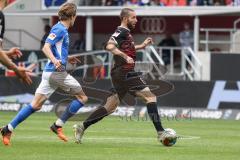
[[[31,104],[23,107],[8,125],[1,128],[4,145],[10,145],[13,130],[31,114],[41,109],[43,103],[57,88],[61,88],[76,97],[76,100],[70,103],[62,116],[50,127],[61,140],[67,141],[62,126],[88,99],[78,81],[66,72],[67,62],[77,63],[78,61],[75,57],[68,56],[68,28],[73,26],[76,19],[76,5],[73,3],[63,4],[58,16],[60,21],[52,27],[42,49],[49,59],[42,74],[42,81]]]

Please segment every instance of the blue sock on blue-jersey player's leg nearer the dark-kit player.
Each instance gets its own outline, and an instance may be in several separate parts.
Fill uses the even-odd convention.
[[[79,100],[73,100],[70,105],[66,108],[59,120],[56,121],[57,126],[62,126],[69,118],[77,113],[84,104]],[[62,121],[62,122],[60,122]]]

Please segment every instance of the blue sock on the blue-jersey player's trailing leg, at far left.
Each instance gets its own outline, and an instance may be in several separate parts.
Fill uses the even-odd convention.
[[[31,104],[27,105],[26,107],[23,107],[16,117],[10,122],[8,125],[8,129],[12,131],[14,128],[16,128],[19,123],[24,121],[27,117],[29,117],[32,113],[34,113],[35,110],[32,108]]]

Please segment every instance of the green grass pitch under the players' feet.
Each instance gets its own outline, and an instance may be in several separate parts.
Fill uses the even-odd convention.
[[[16,112],[0,112],[0,125],[8,123]],[[173,147],[164,147],[156,139],[151,122],[108,117],[92,126],[83,144],[73,142],[72,125],[64,131],[64,143],[50,132],[56,120],[53,113],[36,113],[14,132],[12,145],[0,145],[0,160],[238,160],[240,124],[231,120],[163,120],[183,139]]]

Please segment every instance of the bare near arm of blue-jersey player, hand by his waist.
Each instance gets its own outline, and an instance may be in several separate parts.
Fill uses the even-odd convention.
[[[46,55],[50,61],[54,64],[57,70],[61,70],[62,64],[61,60],[58,60],[54,57],[52,50],[51,50],[51,44],[50,43],[45,43],[43,48],[42,48],[43,53]]]

